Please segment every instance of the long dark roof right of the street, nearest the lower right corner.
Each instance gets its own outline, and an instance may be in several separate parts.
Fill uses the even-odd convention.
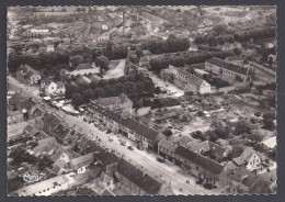
[[[214,175],[219,175],[224,169],[223,165],[220,165],[207,157],[204,157],[204,156],[200,155],[198,153],[190,150],[183,146],[179,146],[175,149],[175,154],[178,156],[181,156],[182,158],[185,158],[189,161],[204,168],[205,170],[208,170],[209,172],[212,172]]]

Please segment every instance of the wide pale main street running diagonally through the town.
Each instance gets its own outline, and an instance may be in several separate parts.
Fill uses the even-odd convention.
[[[12,77],[9,77],[8,82],[11,89],[22,91],[23,94],[33,97],[34,100],[42,103],[42,98],[35,93],[35,87],[24,86]],[[130,160],[135,165],[142,166],[144,169],[146,169],[151,176],[157,176],[158,178],[162,177],[167,183],[171,184],[174,194],[217,194],[214,191],[206,190],[195,184],[195,179],[183,172],[183,170],[178,166],[174,166],[168,161],[164,164],[159,162],[156,159],[156,155],[148,154],[145,150],[138,150],[136,148],[134,150],[129,150],[127,146],[134,146],[134,143],[130,141],[125,139],[127,141],[127,145],[122,146],[119,144],[119,138],[124,137],[114,134],[106,134],[96,128],[93,124],[86,123],[82,119],[66,114],[60,110],[56,110],[49,106],[48,104],[44,105],[47,111],[58,114],[60,117],[65,119],[65,121],[69,123],[70,126],[73,126],[76,130],[84,133],[91,139],[102,139],[100,143],[102,146],[114,149],[119,155],[124,155],[125,159]],[[109,137],[112,137],[113,142],[109,142]],[[190,180],[190,183],[186,183],[186,180]],[[182,191],[180,191],[181,188]]]

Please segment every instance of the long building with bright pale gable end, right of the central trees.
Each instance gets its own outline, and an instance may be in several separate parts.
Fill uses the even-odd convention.
[[[162,78],[173,82],[176,87],[185,91],[202,94],[210,92],[210,85],[207,81],[196,77],[195,75],[191,75],[181,68],[170,66],[169,69],[161,70],[160,75]]]

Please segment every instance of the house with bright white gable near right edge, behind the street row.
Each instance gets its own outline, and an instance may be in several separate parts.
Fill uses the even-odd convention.
[[[249,171],[262,168],[262,158],[253,149],[243,150],[239,157],[232,159],[232,162],[238,167],[246,167]]]

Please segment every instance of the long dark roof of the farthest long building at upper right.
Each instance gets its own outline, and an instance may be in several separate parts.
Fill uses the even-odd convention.
[[[224,69],[228,69],[228,70],[231,70],[231,71],[238,72],[240,75],[247,76],[247,74],[248,74],[248,69],[247,68],[240,67],[238,65],[233,65],[231,63],[227,63],[227,61],[221,60],[221,59],[216,58],[216,57],[207,59],[206,61],[209,63],[209,64],[219,66],[219,67],[221,67]]]

